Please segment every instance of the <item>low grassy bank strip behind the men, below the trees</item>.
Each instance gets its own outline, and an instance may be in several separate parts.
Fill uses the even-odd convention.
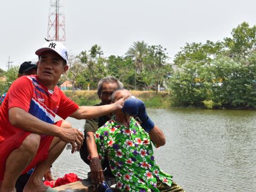
[[[63,91],[67,97],[75,101],[80,106],[92,106],[100,102],[97,95],[97,91]],[[170,108],[171,99],[168,92],[156,92],[154,91],[135,91],[132,90],[131,93],[145,102],[148,108]]]

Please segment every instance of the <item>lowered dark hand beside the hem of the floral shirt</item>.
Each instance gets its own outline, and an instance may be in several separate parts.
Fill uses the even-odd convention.
[[[92,158],[91,163],[90,163],[90,168],[91,168],[92,182],[98,184],[98,183],[102,183],[103,181],[105,181],[99,157]]]

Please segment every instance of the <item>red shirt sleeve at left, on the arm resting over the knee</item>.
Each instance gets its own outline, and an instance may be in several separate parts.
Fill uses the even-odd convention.
[[[33,97],[33,85],[27,76],[16,79],[8,91],[8,110],[12,107],[19,107],[29,110],[30,101]]]

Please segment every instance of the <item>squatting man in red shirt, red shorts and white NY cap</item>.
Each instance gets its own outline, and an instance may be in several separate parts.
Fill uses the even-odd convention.
[[[55,191],[43,185],[43,175],[67,142],[79,150],[83,134],[55,115],[89,119],[122,108],[123,101],[105,106],[78,106],[56,86],[68,70],[67,50],[60,42],[47,42],[36,51],[37,75],[23,76],[11,85],[0,107],[0,187],[15,191],[20,174],[36,167],[23,191]]]

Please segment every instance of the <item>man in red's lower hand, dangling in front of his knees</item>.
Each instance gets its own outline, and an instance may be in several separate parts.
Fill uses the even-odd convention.
[[[78,131],[75,128],[71,128],[71,129],[61,128],[60,134],[61,135],[59,138],[62,141],[69,142],[72,145],[71,153],[74,153],[76,150],[77,151],[80,150],[84,140],[84,135],[82,132]]]

